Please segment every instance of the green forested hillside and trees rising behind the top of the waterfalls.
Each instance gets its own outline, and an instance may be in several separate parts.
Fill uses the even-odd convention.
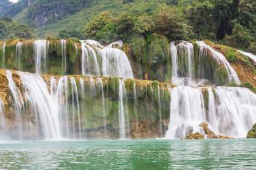
[[[151,35],[210,39],[256,52],[254,0],[20,0],[5,15],[36,26],[38,36],[150,41]],[[7,3],[4,3],[7,5]],[[3,3],[0,4],[0,8]],[[136,41],[138,42],[138,39]],[[146,43],[150,45],[150,42]]]

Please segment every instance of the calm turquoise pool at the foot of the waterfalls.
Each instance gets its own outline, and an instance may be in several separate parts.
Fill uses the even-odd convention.
[[[0,169],[256,169],[256,140],[0,143]]]

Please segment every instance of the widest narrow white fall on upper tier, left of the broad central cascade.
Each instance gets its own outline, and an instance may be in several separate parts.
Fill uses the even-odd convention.
[[[39,39],[34,41],[35,72],[41,74],[46,72],[47,41]]]

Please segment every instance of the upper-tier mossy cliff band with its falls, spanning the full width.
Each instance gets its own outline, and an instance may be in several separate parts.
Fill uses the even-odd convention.
[[[225,85],[228,82],[233,82],[233,74],[227,68],[227,66],[230,68],[232,66],[242,84],[243,82],[249,82],[251,85],[256,86],[256,63],[252,59],[242,55],[236,49],[215,45],[210,42],[208,44],[211,45],[211,50],[207,48],[203,50],[195,42],[176,42],[174,49],[177,55],[176,67],[173,65],[173,58],[175,57],[173,56],[173,49],[170,49],[170,44],[163,38],[158,38],[148,49],[144,49],[136,43],[135,45],[123,45],[123,47],[119,48],[127,56],[122,53],[121,57],[119,57],[121,50],[116,48],[112,48],[113,51],[110,52],[107,48],[102,51],[103,46],[97,47],[97,45],[89,44],[84,44],[86,45],[84,46],[80,41],[74,39],[66,39],[62,42],[61,39],[45,40],[44,44],[38,44],[39,53],[37,53],[34,40],[14,39],[0,42],[1,69],[36,72],[38,59],[40,62],[42,61],[44,66],[42,73],[45,74],[94,74],[106,76],[105,69],[103,67],[100,68],[103,66],[102,62],[105,61],[102,60],[102,57],[108,58],[108,55],[112,55],[117,60],[115,62],[118,62],[118,58],[123,58],[125,59],[125,61],[122,61],[123,64],[124,62],[127,62],[127,65],[131,63],[132,68],[129,70],[133,71],[137,79],[173,82],[171,77],[176,74],[177,77],[187,77],[195,80],[195,82],[203,79],[211,84]],[[116,45],[118,46],[118,44]],[[89,50],[89,53],[86,52],[87,50]],[[222,63],[223,61],[220,61],[214,53],[222,55],[222,59],[226,58],[226,63]],[[64,58],[66,59],[64,60]],[[94,58],[94,60],[89,58]],[[127,58],[129,58],[129,61]],[[97,63],[95,63],[96,61]],[[86,62],[91,63],[90,68],[85,67]],[[95,68],[95,64],[99,67],[97,67],[99,70]],[[63,69],[64,66],[66,66],[65,70]],[[125,68],[125,66],[123,67]],[[89,72],[89,70],[91,71]],[[127,70],[124,72],[127,74]],[[108,73],[113,74],[112,71]],[[118,74],[118,76],[121,77],[121,74]]]

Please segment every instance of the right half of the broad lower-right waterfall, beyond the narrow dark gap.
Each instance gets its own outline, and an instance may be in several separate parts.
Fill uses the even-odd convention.
[[[218,87],[215,90],[217,119],[210,120],[218,121],[214,130],[227,136],[245,137],[256,122],[255,93],[246,88]]]

